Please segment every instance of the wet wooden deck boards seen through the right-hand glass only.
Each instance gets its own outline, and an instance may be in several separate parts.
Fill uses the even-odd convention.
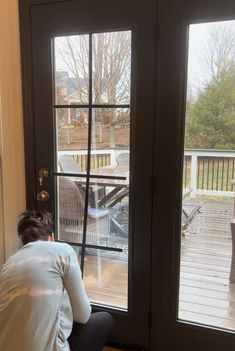
[[[182,238],[179,317],[235,329],[235,284],[229,282],[233,202],[200,205]]]

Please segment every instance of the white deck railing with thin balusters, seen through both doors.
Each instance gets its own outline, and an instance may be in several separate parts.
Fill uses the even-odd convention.
[[[118,154],[129,152],[124,148],[98,149],[91,152],[91,169],[115,165]],[[64,150],[58,152],[71,155],[82,171],[86,169],[85,150]],[[184,153],[183,187],[191,189],[190,196],[233,196],[235,188],[235,151],[193,150]]]

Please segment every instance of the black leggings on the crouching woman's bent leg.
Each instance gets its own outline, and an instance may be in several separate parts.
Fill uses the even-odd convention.
[[[93,313],[86,324],[74,322],[68,338],[71,351],[102,350],[114,329],[114,319],[108,312]]]

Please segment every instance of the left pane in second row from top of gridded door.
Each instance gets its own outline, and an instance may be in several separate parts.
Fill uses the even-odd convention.
[[[88,110],[56,109],[57,170],[83,173],[87,170]]]

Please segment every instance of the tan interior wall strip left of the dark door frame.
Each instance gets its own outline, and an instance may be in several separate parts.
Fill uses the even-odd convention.
[[[24,138],[18,0],[0,1],[0,265],[19,246],[25,209]]]

